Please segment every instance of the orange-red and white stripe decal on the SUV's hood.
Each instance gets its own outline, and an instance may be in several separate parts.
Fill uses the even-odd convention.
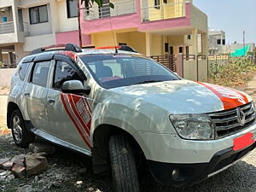
[[[237,90],[216,84],[197,83],[207,87],[209,90],[212,90],[212,92],[223,102],[225,110],[237,108],[248,103],[247,96]]]

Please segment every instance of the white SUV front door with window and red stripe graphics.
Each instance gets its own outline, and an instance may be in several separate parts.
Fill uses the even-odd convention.
[[[55,55],[54,62],[47,96],[51,135],[62,145],[89,154],[91,112],[87,98],[61,91],[65,81],[80,80],[84,84],[86,78],[68,57]]]

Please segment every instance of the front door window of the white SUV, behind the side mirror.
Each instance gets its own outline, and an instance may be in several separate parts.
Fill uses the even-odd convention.
[[[66,61],[56,61],[53,88],[61,89],[61,85],[68,80],[79,80],[84,83],[84,79],[80,77],[78,69]]]

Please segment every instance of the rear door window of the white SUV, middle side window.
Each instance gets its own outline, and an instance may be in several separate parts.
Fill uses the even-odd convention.
[[[39,61],[36,62],[32,71],[31,82],[39,86],[45,87],[48,79],[50,61]]]

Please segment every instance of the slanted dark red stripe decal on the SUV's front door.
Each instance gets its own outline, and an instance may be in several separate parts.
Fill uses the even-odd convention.
[[[69,97],[69,98],[68,97],[69,96],[67,94],[61,93],[61,101],[63,103],[63,106],[64,106],[68,116],[70,117],[70,119],[72,119],[73,124],[79,131],[80,136],[83,138],[84,143],[86,143],[90,147],[90,131],[89,131],[89,133],[87,131],[84,131],[84,127],[83,127],[83,125],[81,125],[81,120],[78,118],[79,115],[77,113],[74,113],[74,111],[76,111],[77,108],[74,108],[74,107],[71,108],[72,107],[71,101],[70,101],[71,97]],[[81,97],[81,96],[77,96],[77,97]],[[90,125],[89,123],[88,123],[88,125]],[[90,126],[88,126],[88,127],[90,127]]]

